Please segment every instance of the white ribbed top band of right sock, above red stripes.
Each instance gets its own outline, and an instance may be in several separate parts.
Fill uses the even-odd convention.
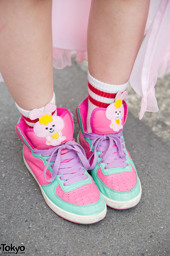
[[[129,83],[129,81],[128,81],[127,83],[122,84],[122,85],[106,84],[106,83],[100,82],[96,78],[92,77],[90,75],[89,71],[88,71],[88,82],[91,85],[91,88],[94,87],[93,89],[99,90],[99,92],[97,92],[97,93],[99,93],[99,95],[101,95],[101,92],[113,93],[113,94],[117,93],[118,91],[123,92]]]

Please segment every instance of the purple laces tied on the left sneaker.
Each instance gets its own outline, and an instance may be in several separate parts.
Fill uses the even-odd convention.
[[[66,149],[67,153],[61,155],[61,151]],[[50,156],[47,159],[47,165],[44,169],[44,179],[47,182],[51,182],[55,179],[56,175],[61,174],[60,180],[66,180],[64,186],[73,184],[78,181],[82,181],[88,178],[87,174],[84,174],[85,169],[89,169],[90,165],[86,158],[86,154],[81,145],[75,141],[67,141],[65,144],[61,144],[56,147],[52,147],[48,150],[34,150],[34,154],[41,154],[41,156]],[[71,159],[69,162],[62,162],[66,159]],[[50,162],[54,162],[51,165],[53,168],[51,179],[46,179],[46,171]],[[84,168],[81,168],[83,167]]]

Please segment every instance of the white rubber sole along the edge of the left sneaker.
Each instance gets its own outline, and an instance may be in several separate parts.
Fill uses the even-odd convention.
[[[38,183],[46,203],[51,208],[51,210],[53,210],[57,215],[61,216],[64,219],[67,219],[68,221],[75,222],[75,223],[80,223],[80,224],[92,224],[92,223],[101,221],[105,217],[106,211],[107,211],[106,205],[105,205],[105,209],[102,212],[100,212],[98,214],[95,214],[95,215],[79,215],[79,214],[74,214],[74,213],[67,212],[67,211],[61,209],[60,207],[58,207],[57,205],[55,205],[47,197],[47,195],[44,192],[43,188],[41,187],[41,185],[39,184],[38,180],[36,179],[33,171],[31,170],[31,168],[29,167],[28,163],[26,162],[26,159],[24,158],[24,156],[23,156],[23,161],[24,161],[27,169],[29,170],[29,172],[32,174],[32,176],[34,177],[34,179]]]

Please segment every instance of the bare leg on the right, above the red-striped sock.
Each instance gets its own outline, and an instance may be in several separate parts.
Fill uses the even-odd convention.
[[[149,0],[92,0],[87,32],[88,65],[96,79],[128,81],[139,51]]]

